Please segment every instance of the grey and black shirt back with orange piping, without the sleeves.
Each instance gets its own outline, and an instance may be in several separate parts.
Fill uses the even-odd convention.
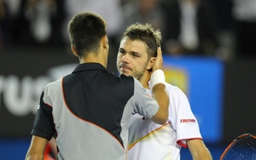
[[[115,77],[98,64],[80,65],[49,84],[44,103],[52,106],[58,157],[125,159],[134,89],[133,77]]]

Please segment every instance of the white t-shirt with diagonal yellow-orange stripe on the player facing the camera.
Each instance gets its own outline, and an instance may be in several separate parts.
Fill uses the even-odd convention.
[[[202,139],[189,100],[181,89],[166,83],[169,94],[169,117],[165,125],[135,114],[129,128],[129,160],[180,159],[186,140]],[[151,96],[150,90],[148,94]]]

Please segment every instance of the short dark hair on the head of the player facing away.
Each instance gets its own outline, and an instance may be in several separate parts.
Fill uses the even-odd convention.
[[[102,37],[107,35],[107,23],[98,14],[84,12],[76,14],[68,24],[70,42],[79,56],[87,52],[98,53]]]

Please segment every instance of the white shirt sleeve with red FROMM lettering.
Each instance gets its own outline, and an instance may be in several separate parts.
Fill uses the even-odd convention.
[[[201,139],[198,121],[191,110],[189,100],[181,89],[169,93],[172,128],[177,132],[177,144],[187,147],[186,140]]]

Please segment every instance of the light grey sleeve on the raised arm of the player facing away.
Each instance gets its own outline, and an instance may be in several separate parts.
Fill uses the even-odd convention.
[[[136,78],[134,78],[133,103],[135,104],[133,113],[138,113],[146,118],[153,117],[159,110],[157,101],[149,97],[146,89]]]

